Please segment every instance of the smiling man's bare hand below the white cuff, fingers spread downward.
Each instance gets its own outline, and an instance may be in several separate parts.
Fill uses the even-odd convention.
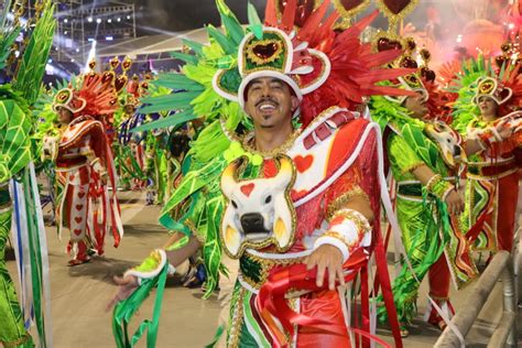
[[[323,244],[312,252],[306,259],[306,269],[312,270],[317,267],[317,286],[323,286],[325,272],[328,272],[328,289],[335,290],[335,281],[339,280],[345,285],[345,275],[342,274],[342,253],[337,247]]]

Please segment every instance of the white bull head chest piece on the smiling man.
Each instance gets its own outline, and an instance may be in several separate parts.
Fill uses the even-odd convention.
[[[295,235],[295,209],[290,198],[295,181],[292,160],[278,156],[274,177],[240,181],[238,171],[244,161],[246,156],[236,160],[221,174],[221,191],[228,200],[221,221],[225,250],[231,258],[241,257],[247,248],[270,244],[284,252]]]

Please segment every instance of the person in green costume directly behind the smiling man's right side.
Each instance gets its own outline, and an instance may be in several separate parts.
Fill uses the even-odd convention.
[[[463,210],[464,203],[454,186],[453,168],[443,160],[454,163],[452,155],[438,141],[447,141],[452,132],[442,122],[422,120],[428,113],[431,96],[418,77],[401,79],[401,83],[417,95],[400,99],[372,97],[370,108],[384,134],[396,182],[396,215],[411,263],[411,268],[404,264],[393,282],[401,334],[405,337],[416,314],[418,287],[424,276],[428,274],[429,297],[443,312],[449,313],[453,312],[448,301],[450,271],[460,285],[472,278],[475,268],[463,251],[467,249],[459,249],[465,243],[459,239],[461,233],[454,228],[456,219],[453,217]],[[384,313],[381,314],[384,319]],[[445,327],[432,305],[426,319],[441,329]]]

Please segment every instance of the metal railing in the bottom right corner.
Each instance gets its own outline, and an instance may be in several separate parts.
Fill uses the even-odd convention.
[[[516,303],[513,261],[508,251],[499,251],[493,257],[490,264],[486,268],[486,271],[475,285],[475,289],[467,298],[463,309],[457,312],[455,317],[452,319],[452,323],[458,328],[460,334],[466,337],[499,278],[502,278],[503,313],[490,338],[488,347],[498,348],[504,347],[504,345],[508,347],[516,347]],[[459,346],[460,340],[458,336],[448,326],[435,342],[434,347]]]

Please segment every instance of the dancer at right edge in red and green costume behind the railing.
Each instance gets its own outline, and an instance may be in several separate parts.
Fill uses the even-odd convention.
[[[454,126],[466,139],[466,209],[463,226],[477,251],[513,250],[519,167],[522,164],[520,63],[500,62],[492,70],[483,59],[465,63],[454,84],[459,99]],[[518,61],[516,61],[518,62]],[[477,75],[478,78],[477,78]]]

